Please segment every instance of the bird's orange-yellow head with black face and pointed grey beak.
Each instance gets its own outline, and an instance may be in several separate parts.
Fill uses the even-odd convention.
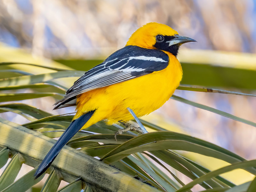
[[[137,29],[129,38],[127,45],[136,45],[147,49],[159,49],[177,56],[183,43],[197,42],[196,40],[179,36],[178,32],[167,25],[148,23]]]

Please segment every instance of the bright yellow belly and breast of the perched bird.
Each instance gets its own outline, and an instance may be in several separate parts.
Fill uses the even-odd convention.
[[[160,108],[172,96],[182,78],[180,62],[172,54],[168,55],[170,64],[162,71],[78,95],[74,119],[97,109],[84,129],[103,119],[107,119],[107,124],[133,119],[127,107],[138,117]]]

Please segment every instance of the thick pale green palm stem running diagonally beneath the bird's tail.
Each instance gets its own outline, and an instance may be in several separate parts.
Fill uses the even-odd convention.
[[[36,167],[40,163],[39,161],[44,159],[56,142],[56,140],[3,118],[0,118],[0,127],[0,146],[19,151],[26,159],[26,164],[33,167]],[[12,137],[10,137],[10,134]],[[92,185],[100,186],[103,191],[115,191],[116,188],[120,191],[127,188],[130,188],[131,191],[157,191],[124,172],[67,145],[62,148],[59,155],[52,162],[52,166],[61,172],[63,180],[71,182],[72,179],[81,178]],[[49,172],[50,170],[51,167],[46,171]],[[95,177],[95,174],[100,176]],[[130,185],[130,182],[127,183],[127,180],[133,185]],[[137,188],[138,185],[141,186],[141,189]]]

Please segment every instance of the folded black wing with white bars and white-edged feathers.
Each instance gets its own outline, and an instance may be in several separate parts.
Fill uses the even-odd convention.
[[[54,109],[75,105],[81,93],[163,70],[168,62],[168,55],[162,51],[125,46],[80,77]]]

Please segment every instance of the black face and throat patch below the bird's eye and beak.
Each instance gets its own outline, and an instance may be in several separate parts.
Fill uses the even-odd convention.
[[[174,36],[164,36],[164,41],[156,42],[156,44],[154,44],[154,47],[156,47],[156,49],[159,49],[159,50],[170,52],[175,57],[177,57],[179,48],[180,48],[180,44],[174,44],[174,45],[169,46],[169,43],[166,43],[167,41],[171,41],[174,38],[175,38]]]

